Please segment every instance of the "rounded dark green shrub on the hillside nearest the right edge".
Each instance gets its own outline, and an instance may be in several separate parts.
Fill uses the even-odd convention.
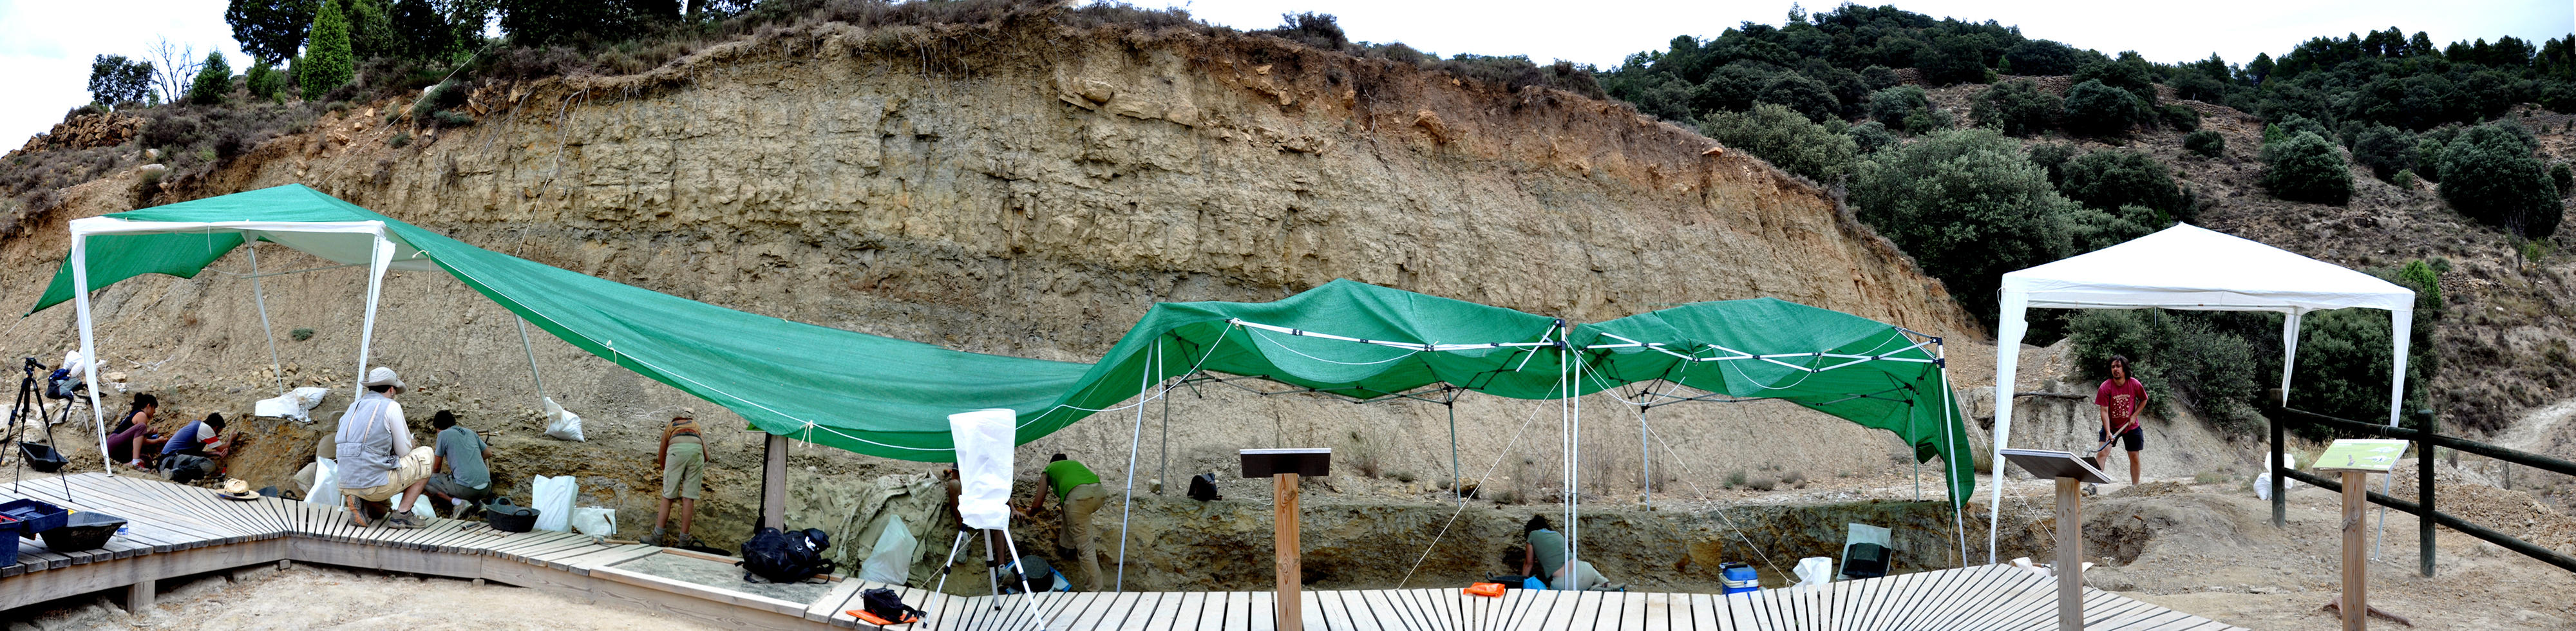
[[[2563,214],[2558,185],[2532,157],[2537,142],[2512,121],[2460,131],[2442,149],[2442,201],[2463,216],[2543,240],[2558,232]]]

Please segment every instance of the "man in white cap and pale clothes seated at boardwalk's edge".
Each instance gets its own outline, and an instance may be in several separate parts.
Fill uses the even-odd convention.
[[[358,528],[366,528],[366,505],[361,502],[386,502],[399,494],[384,515],[384,528],[420,528],[407,510],[420,502],[420,492],[430,482],[435,451],[412,446],[412,425],[402,420],[402,404],[394,402],[394,394],[404,389],[394,368],[376,366],[358,384],[366,391],[340,415],[340,433],[335,435],[340,443],[340,492],[348,494],[348,518]]]

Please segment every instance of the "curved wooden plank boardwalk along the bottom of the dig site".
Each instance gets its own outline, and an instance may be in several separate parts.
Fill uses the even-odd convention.
[[[64,497],[67,492],[70,497]],[[18,564],[0,567],[0,610],[100,590],[126,590],[129,608],[149,608],[157,579],[309,561],[489,579],[654,610],[716,628],[876,628],[845,610],[858,608],[858,595],[868,587],[894,587],[904,603],[930,610],[920,623],[894,628],[1278,631],[1270,618],[1270,592],[958,598],[920,587],[835,579],[829,592],[814,603],[791,603],[621,569],[618,564],[654,554],[698,554],[608,546],[574,533],[495,533],[469,520],[435,520],[417,531],[353,528],[337,507],[268,497],[234,502],[198,487],[108,474],[0,487],[0,500],[15,497],[118,515],[129,520],[129,531],[95,551],[52,551],[41,541],[21,538]],[[724,556],[703,559],[732,561]],[[2084,595],[2084,628],[2236,628],[2092,587]],[[1762,590],[1752,595],[1507,590],[1504,598],[1471,598],[1455,587],[1321,590],[1306,592],[1303,608],[1306,628],[1352,631],[2038,631],[2056,628],[2056,582],[2012,567],[1963,567],[1834,582],[1814,592]]]

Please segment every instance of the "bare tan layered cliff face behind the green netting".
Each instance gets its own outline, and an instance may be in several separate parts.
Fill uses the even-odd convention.
[[[1046,21],[824,23],[641,75],[489,85],[471,100],[479,124],[464,129],[386,121],[384,111],[404,108],[327,116],[178,183],[175,196],[307,183],[474,245],[654,291],[1064,361],[1095,358],[1154,301],[1260,301],[1332,278],[1569,319],[1780,296],[1984,337],[1937,281],[1824,191],[1754,157],[1615,103],[1504,93],[1267,36]],[[397,134],[415,137],[394,147]],[[82,185],[72,214],[121,211],[131,191],[131,175]],[[0,245],[21,278],[52,273],[67,216]],[[260,260],[263,270],[307,265],[286,250]],[[276,381],[345,391],[363,296],[355,273],[263,278],[286,363],[273,379],[250,281],[237,276],[247,260],[216,268],[227,273],[100,294],[103,343],[131,373],[129,389],[160,391],[178,415],[242,415]],[[36,291],[18,283],[0,299],[28,304]],[[652,528],[652,425],[690,402],[538,335],[546,394],[590,417],[592,443],[536,438],[536,384],[510,348],[510,322],[446,276],[399,273],[374,353],[420,386],[407,399],[422,410],[415,417],[451,407],[500,433],[495,469],[513,492],[523,494],[531,474],[577,474],[585,502],[621,507],[629,533]],[[67,345],[70,309],[0,337]],[[1963,353],[1984,350],[1953,350]],[[793,371],[781,366],[775,379]],[[325,410],[343,404],[335,394]],[[1540,438],[1546,428],[1530,428],[1556,415],[1540,410],[1553,402],[1352,407],[1200,386],[1159,404],[1151,420],[1108,412],[1023,453],[1072,451],[1110,484],[1131,479],[1121,464],[1131,446],[1144,453],[1133,479],[1172,471],[1175,487],[1190,471],[1226,471],[1231,448],[1244,446],[1342,448],[1352,476],[1365,461],[1370,476],[1399,479],[1360,487],[1381,494],[1437,494],[1430,487],[1445,484],[1453,464],[1489,497],[1553,502],[1543,494],[1558,484],[1561,453]],[[1638,461],[1646,438],[1623,412],[1636,407],[1595,397],[1587,410],[1600,417],[1584,428],[1584,440],[1597,440],[1582,453],[1584,492],[1610,502],[1633,500],[1646,479],[1687,489],[1669,469],[1713,489],[1726,471],[1886,471],[1899,453],[1886,433],[1788,404],[1672,407],[1654,412],[1649,476]],[[1455,438],[1445,433],[1450,412]],[[237,474],[268,484],[309,458],[327,422],[255,420],[252,430],[273,438],[252,443]],[[757,510],[757,438],[719,433],[711,453],[698,528],[716,543],[739,541]],[[835,541],[858,551],[873,541],[886,497],[920,489],[863,479],[925,466],[801,448],[793,471],[791,520],[840,525]],[[1249,484],[1231,494],[1260,497]],[[925,554],[938,556],[948,538],[930,533]],[[1115,533],[1110,525],[1105,538]],[[1195,551],[1141,554],[1190,567]],[[1486,543],[1463,554],[1453,574],[1481,572]],[[1352,559],[1327,572],[1342,585],[1394,582],[1386,564]],[[1646,561],[1605,569],[1649,572]],[[1157,572],[1144,585],[1208,579]]]

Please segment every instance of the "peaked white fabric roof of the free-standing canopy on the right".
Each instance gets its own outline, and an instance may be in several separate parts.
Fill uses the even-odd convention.
[[[2004,294],[2050,309],[2313,312],[2409,309],[2414,291],[2280,247],[2174,224],[2089,255],[2004,273]]]

